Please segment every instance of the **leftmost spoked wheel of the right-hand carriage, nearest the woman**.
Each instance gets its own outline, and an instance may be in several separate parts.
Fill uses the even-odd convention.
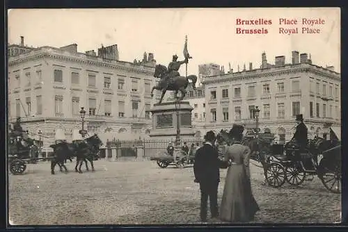
[[[266,181],[274,188],[279,188],[285,183],[286,172],[280,163],[271,163],[266,171]]]

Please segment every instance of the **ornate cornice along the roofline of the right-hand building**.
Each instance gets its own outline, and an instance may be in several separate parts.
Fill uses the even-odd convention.
[[[340,81],[340,77],[338,76],[339,74],[330,74],[328,72],[317,70],[315,67],[299,67],[299,68],[296,67],[294,69],[274,70],[273,72],[271,70],[267,70],[264,73],[260,73],[260,72],[263,72],[260,70],[262,69],[255,69],[250,72],[248,71],[248,72],[241,72],[241,73],[235,73],[235,74],[226,74],[223,76],[212,76],[212,77],[205,78],[205,80],[203,80],[202,83],[210,84],[210,83],[226,83],[226,82],[232,82],[232,81],[233,82],[250,81],[257,78],[283,76],[283,75],[306,73],[306,72],[331,78],[334,81]]]

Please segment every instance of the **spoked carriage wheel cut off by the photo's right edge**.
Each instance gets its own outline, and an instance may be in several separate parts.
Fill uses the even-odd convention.
[[[320,167],[319,179],[330,192],[340,193],[342,188],[342,172],[340,164],[335,165],[333,170]]]

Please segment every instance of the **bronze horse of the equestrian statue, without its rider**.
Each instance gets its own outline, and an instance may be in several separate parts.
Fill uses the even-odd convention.
[[[187,77],[184,76],[175,76],[173,80],[169,80],[168,78],[168,69],[164,65],[156,65],[155,67],[155,78],[161,78],[157,86],[154,86],[151,90],[151,97],[153,97],[153,90],[161,90],[162,95],[159,103],[162,102],[164,94],[166,94],[167,90],[175,91],[175,98],[177,97],[177,92],[181,92],[181,97],[179,101],[184,99],[186,94],[187,85],[189,85],[189,80],[192,81],[193,90],[196,89],[196,75],[189,75]]]

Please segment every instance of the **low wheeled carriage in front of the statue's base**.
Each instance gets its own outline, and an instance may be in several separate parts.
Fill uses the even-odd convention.
[[[175,160],[174,160],[175,158]],[[176,167],[183,168],[185,165],[193,164],[194,162],[194,152],[188,153],[182,149],[177,149],[174,151],[173,156],[168,154],[167,151],[159,151],[156,156],[150,158],[150,160],[155,160],[157,165],[161,168],[168,167],[169,165],[175,165]]]

